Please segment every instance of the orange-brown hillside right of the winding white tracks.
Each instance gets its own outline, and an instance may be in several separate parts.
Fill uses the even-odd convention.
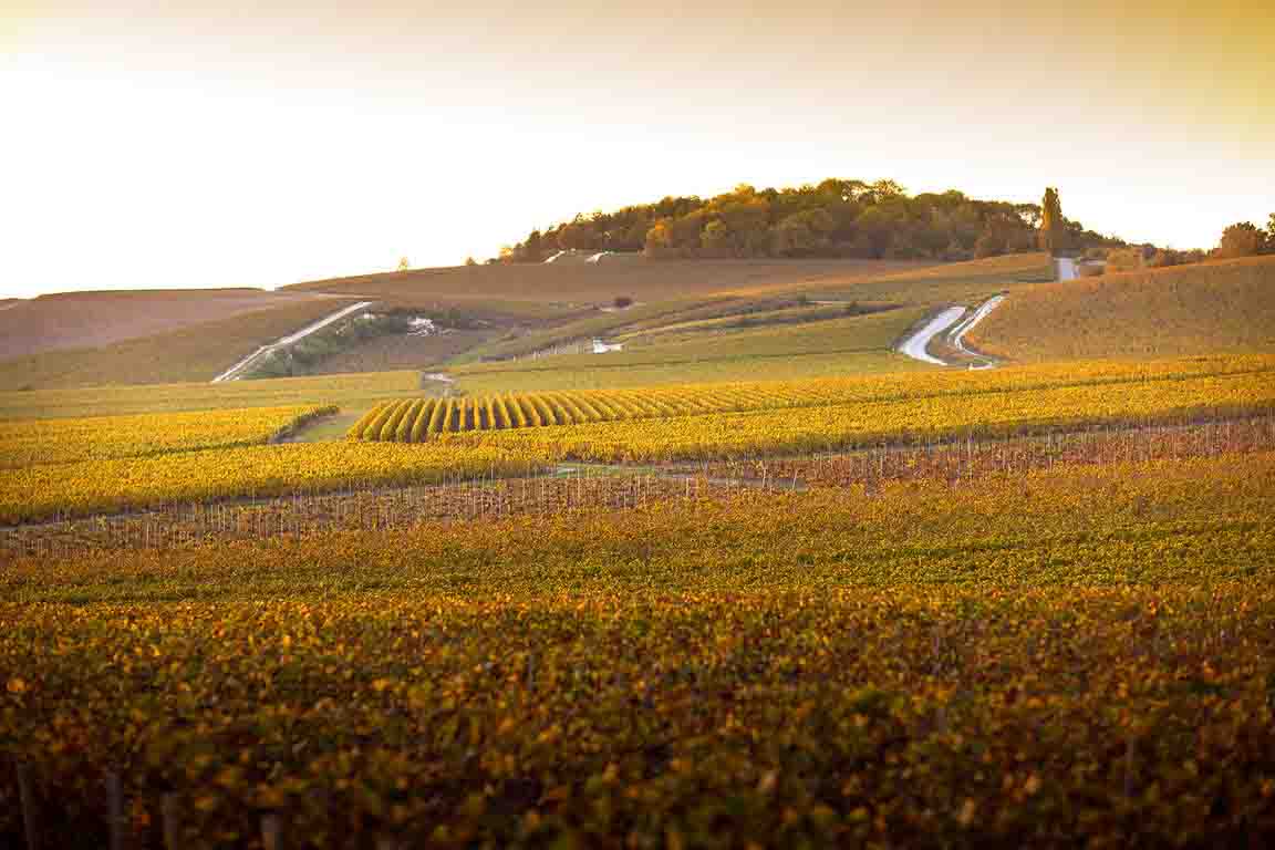
[[[1017,361],[1275,350],[1275,256],[1023,287],[970,339]]]

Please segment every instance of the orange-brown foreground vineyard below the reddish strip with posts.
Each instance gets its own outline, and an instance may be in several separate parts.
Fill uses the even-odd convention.
[[[1275,455],[852,492],[19,559],[0,840],[1275,833]]]

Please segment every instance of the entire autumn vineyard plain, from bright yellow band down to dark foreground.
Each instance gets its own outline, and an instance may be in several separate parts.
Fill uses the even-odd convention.
[[[1275,357],[416,386],[8,401],[0,846],[1275,840]]]

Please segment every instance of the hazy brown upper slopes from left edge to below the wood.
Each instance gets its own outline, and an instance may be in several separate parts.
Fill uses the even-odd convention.
[[[617,296],[668,299],[673,315],[705,299],[740,297],[729,293],[835,289],[915,268],[844,260],[462,266],[319,280],[278,293],[48,296],[0,311],[9,354],[0,362],[0,390],[210,380],[256,347],[353,299],[386,308],[459,311],[470,329],[459,347],[451,339],[409,347],[368,340],[316,372],[426,368],[501,338],[552,336],[552,329],[571,322],[601,320],[590,333],[604,333],[615,313],[602,307]],[[578,330],[572,326],[570,334]]]

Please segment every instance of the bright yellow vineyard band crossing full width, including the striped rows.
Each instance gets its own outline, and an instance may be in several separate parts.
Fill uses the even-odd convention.
[[[23,419],[0,424],[8,466],[0,522],[455,484],[543,474],[560,463],[746,465],[958,437],[1193,424],[1272,409],[1275,361],[1253,356],[400,399],[372,407],[351,440],[296,445],[252,443],[326,408]]]

